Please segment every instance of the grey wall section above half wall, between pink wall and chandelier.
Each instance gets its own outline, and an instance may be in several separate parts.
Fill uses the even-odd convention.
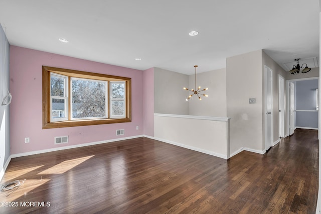
[[[188,83],[188,75],[154,68],[154,113],[188,115],[189,104],[183,90]]]

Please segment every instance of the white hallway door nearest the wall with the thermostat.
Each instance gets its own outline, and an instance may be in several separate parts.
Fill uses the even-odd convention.
[[[265,101],[265,150],[269,150],[273,142],[273,97],[272,97],[272,69],[264,66],[264,101]]]

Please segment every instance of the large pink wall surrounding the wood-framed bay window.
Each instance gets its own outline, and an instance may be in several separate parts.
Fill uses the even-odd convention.
[[[130,77],[132,122],[56,129],[42,129],[42,66]],[[10,49],[11,154],[52,149],[143,134],[143,72],[17,46]],[[139,126],[139,130],[136,130]],[[116,129],[125,135],[116,136]],[[55,145],[55,136],[69,136],[69,143]],[[30,137],[30,143],[25,143]]]

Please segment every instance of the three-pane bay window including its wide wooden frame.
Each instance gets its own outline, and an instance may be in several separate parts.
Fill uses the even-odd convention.
[[[43,66],[43,128],[131,121],[131,79]]]

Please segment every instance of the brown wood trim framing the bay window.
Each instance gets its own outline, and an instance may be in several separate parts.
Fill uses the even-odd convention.
[[[125,109],[126,117],[50,122],[50,72],[66,75],[69,77],[73,76],[73,77],[95,79],[95,80],[107,80],[108,82],[125,81],[126,82],[126,109]],[[108,95],[108,98],[109,98],[109,95]],[[131,122],[131,78],[42,66],[42,101],[43,101],[42,103],[42,113],[43,113],[42,128],[43,129]]]

